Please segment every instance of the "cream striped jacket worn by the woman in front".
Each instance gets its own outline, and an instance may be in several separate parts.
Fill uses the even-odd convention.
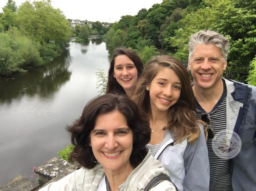
[[[155,160],[148,152],[145,159],[130,173],[127,180],[119,186],[120,191],[142,191],[145,186],[155,176],[164,173],[168,174],[162,164]],[[102,165],[98,163],[92,169],[80,168],[73,173],[65,176],[57,182],[50,183],[40,191],[106,191],[106,187],[99,189],[98,186],[102,181],[105,173]],[[176,191],[175,186],[170,181],[162,181],[150,191]]]

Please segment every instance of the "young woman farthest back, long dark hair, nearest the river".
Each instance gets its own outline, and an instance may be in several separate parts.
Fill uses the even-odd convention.
[[[143,70],[143,63],[132,49],[119,47],[112,53],[106,93],[132,95],[137,79]]]

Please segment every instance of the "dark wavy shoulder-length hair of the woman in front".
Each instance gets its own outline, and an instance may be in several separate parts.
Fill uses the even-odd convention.
[[[146,144],[150,141],[150,127],[147,117],[142,115],[137,105],[125,95],[105,94],[96,97],[84,107],[82,116],[66,129],[71,133],[71,142],[75,146],[69,159],[73,159],[86,168],[95,167],[97,160],[92,153],[90,133],[94,129],[97,116],[113,111],[121,112],[128,127],[133,132],[133,146],[130,164],[137,167],[147,155]]]

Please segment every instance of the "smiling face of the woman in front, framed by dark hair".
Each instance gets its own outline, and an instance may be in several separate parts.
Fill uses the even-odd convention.
[[[119,111],[97,116],[90,133],[92,152],[104,172],[122,172],[134,169],[130,164],[133,133],[126,118]]]

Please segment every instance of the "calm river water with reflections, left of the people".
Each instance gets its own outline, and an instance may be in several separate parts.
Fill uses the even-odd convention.
[[[97,69],[109,67],[106,44],[71,43],[67,55],[27,74],[0,79],[0,185],[57,157],[70,144],[65,126],[98,94]]]

